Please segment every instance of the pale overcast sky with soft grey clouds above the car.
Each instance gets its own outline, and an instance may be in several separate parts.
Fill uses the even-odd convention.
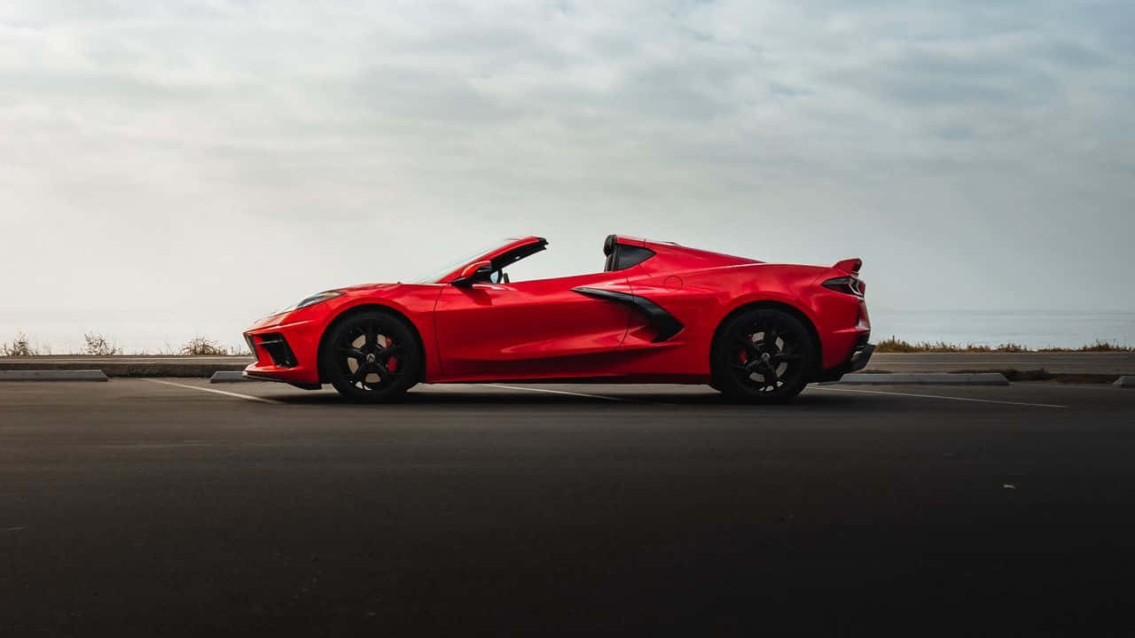
[[[133,347],[538,234],[1135,311],[1135,3],[0,5],[0,338]],[[1073,344],[1066,344],[1073,345]]]

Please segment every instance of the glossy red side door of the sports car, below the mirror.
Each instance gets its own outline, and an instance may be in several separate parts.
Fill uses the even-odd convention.
[[[577,288],[630,292],[623,272],[447,286],[434,311],[443,376],[602,376],[631,309]]]

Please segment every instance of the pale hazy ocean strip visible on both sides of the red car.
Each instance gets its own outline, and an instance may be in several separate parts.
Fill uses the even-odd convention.
[[[1079,347],[1096,341],[1135,346],[1135,312],[1067,311],[910,311],[871,308],[872,341],[897,336],[908,342],[939,342],[997,346],[1017,343],[1028,347]],[[82,352],[83,333],[96,331],[127,353],[176,352],[196,335],[222,346],[243,345],[246,317],[187,318],[173,314],[143,320],[128,314],[95,318],[76,313],[0,312],[0,342],[23,331],[41,351]]]

